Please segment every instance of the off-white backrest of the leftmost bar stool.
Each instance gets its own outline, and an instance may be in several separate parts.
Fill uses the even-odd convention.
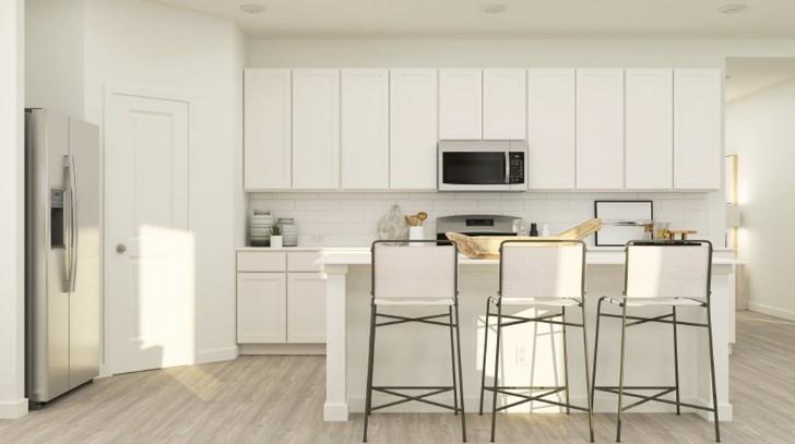
[[[417,243],[420,243],[417,245]],[[450,241],[372,242],[372,296],[379,299],[455,298],[459,257]]]

